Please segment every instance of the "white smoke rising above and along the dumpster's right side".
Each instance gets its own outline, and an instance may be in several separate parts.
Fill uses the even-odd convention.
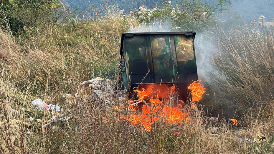
[[[157,20],[156,20],[157,21]],[[132,28],[128,33],[145,33],[145,32],[172,32],[176,31],[176,27],[172,27],[169,21],[159,21],[159,23],[151,22],[150,24],[142,23],[137,28]],[[180,28],[181,29],[181,28]],[[187,29],[187,28],[183,28]],[[216,70],[211,64],[211,57],[218,52],[217,44],[214,43],[209,35],[211,33],[197,33],[194,39],[195,55],[197,62],[198,78],[202,84],[208,84],[214,82],[212,75],[222,80],[225,76]]]

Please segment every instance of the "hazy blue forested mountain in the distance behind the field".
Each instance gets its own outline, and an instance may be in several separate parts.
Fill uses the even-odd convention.
[[[90,7],[101,8],[104,4],[115,4],[121,9],[129,12],[131,9],[138,8],[144,0],[64,0],[64,2],[70,5],[71,8],[76,9],[79,6],[79,10],[83,12],[87,11]],[[176,0],[178,1],[178,0]],[[201,0],[207,2],[209,6],[215,6],[217,1],[220,0]],[[161,1],[162,2],[162,1]],[[174,2],[171,0],[171,2]],[[265,16],[265,21],[273,21],[274,18],[274,0],[231,0],[232,11],[239,13],[243,19],[251,21],[252,19],[258,21],[260,15]],[[157,0],[147,0],[146,6],[154,7],[154,4],[161,4]],[[158,5],[159,6],[159,5]],[[90,11],[92,12],[92,11]]]

